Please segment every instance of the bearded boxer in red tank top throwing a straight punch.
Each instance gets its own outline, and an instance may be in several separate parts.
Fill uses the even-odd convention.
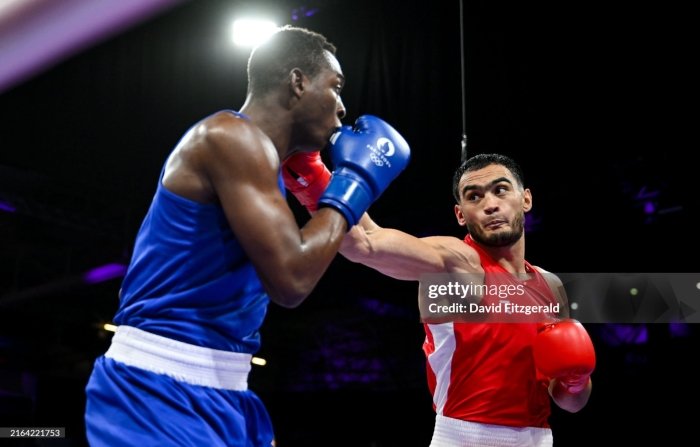
[[[320,158],[289,159],[285,184],[313,208],[327,182]],[[453,192],[462,239],[417,238],[382,228],[365,214],[341,253],[386,275],[418,281],[425,274],[469,274],[484,285],[507,281],[527,302],[559,308],[546,322],[445,321],[424,324],[428,385],[436,423],[432,447],[551,446],[550,398],[569,412],[591,394],[593,345],[568,319],[561,281],[525,260],[525,213],[532,194],[520,167],[499,154],[480,154],[455,172]],[[313,212],[313,209],[310,209]],[[474,298],[474,297],[472,297]],[[493,297],[480,296],[482,303]]]

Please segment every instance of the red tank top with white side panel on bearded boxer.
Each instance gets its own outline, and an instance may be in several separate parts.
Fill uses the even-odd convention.
[[[508,273],[470,236],[465,243],[479,253],[486,284]],[[525,266],[531,279],[509,275],[526,291],[520,304],[557,303],[540,272],[527,261]],[[549,427],[548,382],[538,380],[532,356],[537,323],[424,326],[428,386],[437,414],[485,424]]]

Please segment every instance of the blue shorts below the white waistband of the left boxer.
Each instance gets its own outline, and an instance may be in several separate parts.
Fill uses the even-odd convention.
[[[190,385],[101,356],[86,393],[91,447],[270,447],[274,439],[250,390]]]

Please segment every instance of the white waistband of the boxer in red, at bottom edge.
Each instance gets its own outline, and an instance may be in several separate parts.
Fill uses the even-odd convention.
[[[481,424],[437,415],[430,447],[551,447],[552,430]]]

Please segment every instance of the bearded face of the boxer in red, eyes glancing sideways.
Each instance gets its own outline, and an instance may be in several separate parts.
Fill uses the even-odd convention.
[[[522,237],[532,196],[504,166],[465,172],[459,181],[459,194],[457,221],[467,227],[475,241],[503,247]]]

